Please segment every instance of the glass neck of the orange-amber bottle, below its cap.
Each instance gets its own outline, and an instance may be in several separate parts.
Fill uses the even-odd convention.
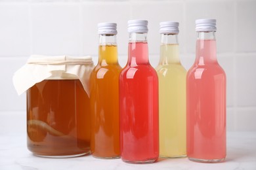
[[[98,46],[98,63],[102,66],[118,63],[116,35],[100,35]]]

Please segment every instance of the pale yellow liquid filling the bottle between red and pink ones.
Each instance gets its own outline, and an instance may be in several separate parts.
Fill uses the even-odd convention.
[[[186,70],[179,60],[179,44],[160,46],[160,156],[186,156]]]

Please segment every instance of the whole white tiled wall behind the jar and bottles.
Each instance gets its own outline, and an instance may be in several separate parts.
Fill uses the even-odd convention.
[[[148,20],[154,67],[159,60],[159,22],[180,22],[181,62],[189,69],[195,58],[194,20],[216,18],[218,58],[227,76],[228,130],[256,131],[255,7],[253,0],[2,0],[0,120],[9,111],[25,116],[26,95],[16,94],[12,75],[31,54],[91,55],[96,64],[98,22],[117,22],[119,63],[124,66],[127,20]]]

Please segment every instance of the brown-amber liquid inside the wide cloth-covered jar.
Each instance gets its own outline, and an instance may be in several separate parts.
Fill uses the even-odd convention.
[[[28,149],[39,156],[90,152],[89,97],[79,80],[43,80],[27,92]]]

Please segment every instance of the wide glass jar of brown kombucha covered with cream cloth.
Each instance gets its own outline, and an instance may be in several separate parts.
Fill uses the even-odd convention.
[[[33,65],[34,79],[51,73],[27,90],[28,149],[37,156],[54,158],[89,154],[90,103],[85,89],[93,62],[52,59],[27,63]]]

